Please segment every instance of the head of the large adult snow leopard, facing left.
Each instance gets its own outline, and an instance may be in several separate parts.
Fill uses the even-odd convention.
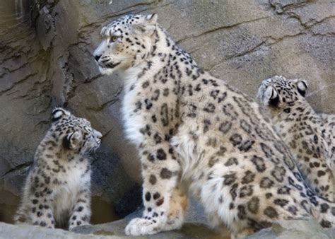
[[[126,70],[151,52],[157,14],[126,15],[101,30],[102,42],[93,56],[102,74]]]

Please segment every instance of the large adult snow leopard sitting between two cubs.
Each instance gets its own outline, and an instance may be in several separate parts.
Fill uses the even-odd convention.
[[[102,74],[124,76],[124,126],[142,163],[145,211],[125,232],[180,228],[183,188],[233,235],[307,215],[334,225],[335,205],[305,183],[259,105],[199,68],[156,19],[113,21],[94,52]]]

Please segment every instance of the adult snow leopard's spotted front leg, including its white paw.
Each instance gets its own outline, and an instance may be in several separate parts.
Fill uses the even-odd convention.
[[[143,144],[143,217],[134,218],[125,229],[127,235],[148,235],[179,229],[184,219],[186,196],[177,189],[180,164],[170,144]],[[171,209],[171,211],[170,211]]]

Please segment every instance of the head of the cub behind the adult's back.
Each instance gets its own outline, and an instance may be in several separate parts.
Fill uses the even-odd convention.
[[[290,114],[297,103],[305,103],[307,83],[299,79],[274,76],[261,82],[257,98],[271,113]]]

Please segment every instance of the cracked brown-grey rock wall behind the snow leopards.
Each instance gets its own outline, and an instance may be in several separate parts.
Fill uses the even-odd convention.
[[[93,223],[141,204],[139,161],[122,134],[122,81],[101,76],[92,52],[102,25],[153,12],[199,65],[244,93],[255,95],[275,74],[306,78],[312,105],[335,112],[331,0],[1,0],[0,221],[11,222],[56,105],[103,134],[93,157]]]

